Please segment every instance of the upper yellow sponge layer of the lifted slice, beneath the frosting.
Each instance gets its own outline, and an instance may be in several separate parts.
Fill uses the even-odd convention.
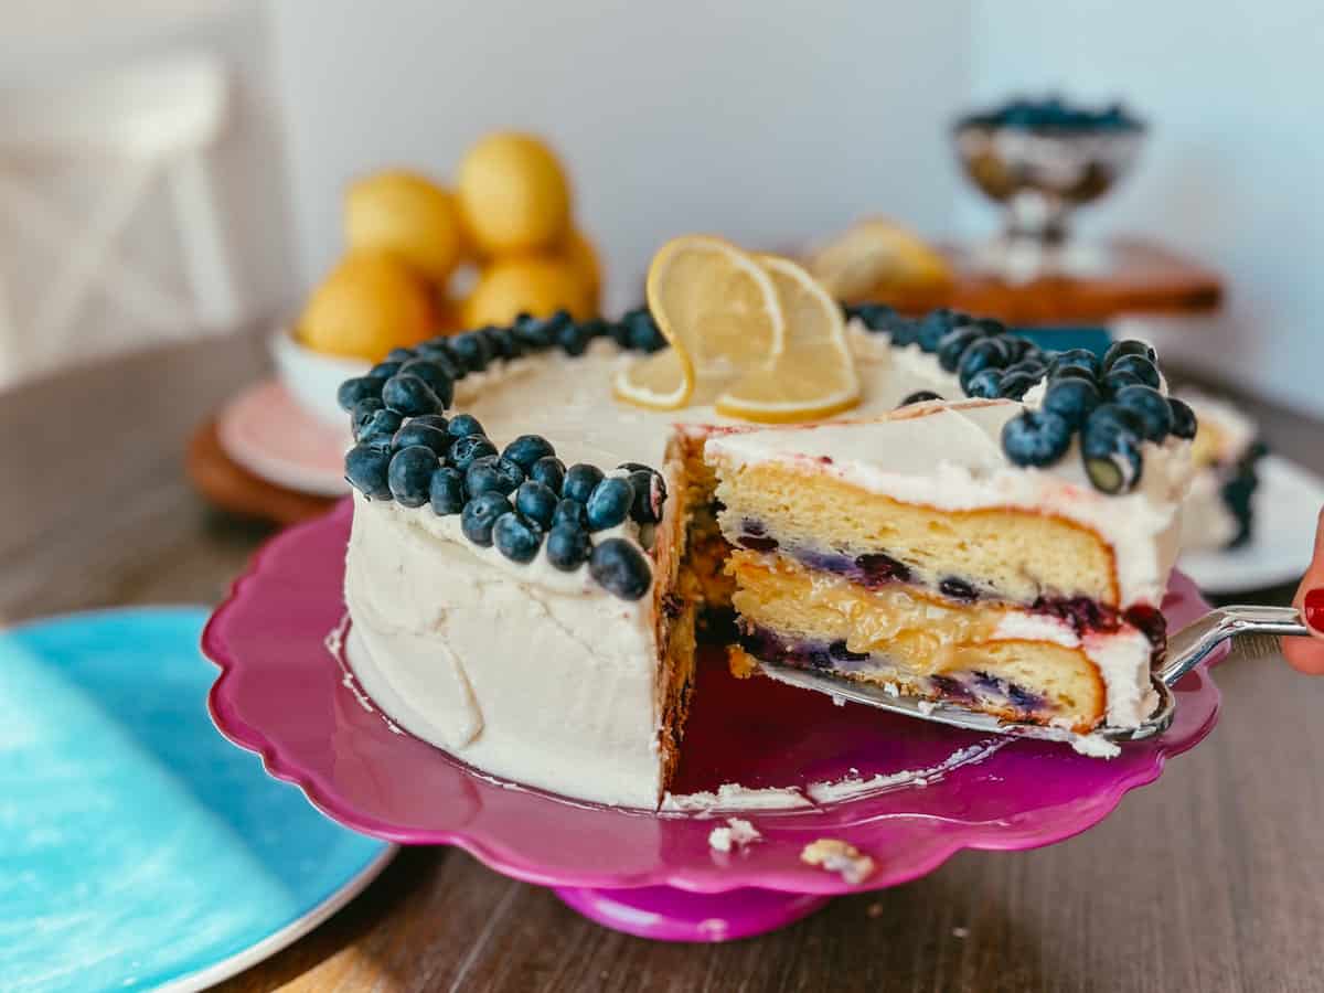
[[[784,465],[720,466],[723,531],[757,520],[782,547],[903,563],[915,583],[955,576],[1017,602],[1039,596],[1117,605],[1112,548],[1064,518],[1014,507],[968,511],[902,503],[821,473]]]

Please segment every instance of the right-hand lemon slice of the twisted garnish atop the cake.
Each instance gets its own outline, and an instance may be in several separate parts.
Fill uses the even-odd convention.
[[[830,417],[859,404],[859,377],[841,307],[794,262],[777,256],[757,261],[772,278],[786,315],[782,348],[719,396],[718,413],[785,424]]]

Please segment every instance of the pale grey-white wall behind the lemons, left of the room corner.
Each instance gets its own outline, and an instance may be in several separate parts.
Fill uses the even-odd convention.
[[[347,180],[449,176],[496,127],[568,160],[613,307],[671,234],[777,246],[865,211],[952,221],[941,122],[967,95],[963,0],[281,0],[270,19],[305,283],[342,249]]]

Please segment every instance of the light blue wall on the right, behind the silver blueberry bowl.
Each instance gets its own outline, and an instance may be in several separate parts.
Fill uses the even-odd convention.
[[[1140,232],[1227,279],[1165,354],[1324,413],[1324,5],[978,0],[972,94],[1120,95],[1152,124],[1135,176],[1080,230]],[[994,225],[965,199],[967,230]]]

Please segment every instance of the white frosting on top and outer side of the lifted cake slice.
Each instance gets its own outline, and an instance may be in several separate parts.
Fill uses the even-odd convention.
[[[798,463],[939,510],[1018,507],[1067,518],[1112,547],[1121,604],[1161,602],[1177,552],[1190,444],[1147,444],[1140,485],[1108,495],[1087,479],[1075,442],[1050,469],[1012,465],[1000,436],[1021,409],[1010,400],[918,405],[895,417],[732,433],[710,440],[707,450],[736,467]]]

